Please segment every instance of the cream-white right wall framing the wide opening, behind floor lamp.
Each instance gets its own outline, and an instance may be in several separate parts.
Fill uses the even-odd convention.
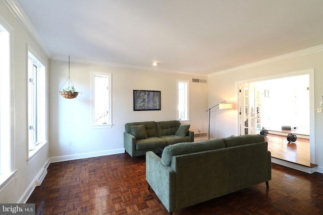
[[[322,51],[316,50],[311,52],[311,49],[309,49],[307,54],[302,52],[298,56],[290,56],[277,61],[273,60],[267,63],[223,71],[220,75],[214,73],[209,77],[209,106],[214,105],[214,101],[237,101],[236,82],[314,68],[315,107],[320,107],[320,101],[323,101],[320,99],[320,96],[323,95],[323,85],[321,84],[323,80],[322,59]],[[223,137],[230,133],[238,133],[236,116],[237,109],[233,115],[222,120],[222,123],[226,126],[219,128],[221,129],[221,136],[218,137]],[[323,130],[323,113],[315,113],[315,164],[318,165],[318,172],[323,173],[323,133],[321,130]]]

